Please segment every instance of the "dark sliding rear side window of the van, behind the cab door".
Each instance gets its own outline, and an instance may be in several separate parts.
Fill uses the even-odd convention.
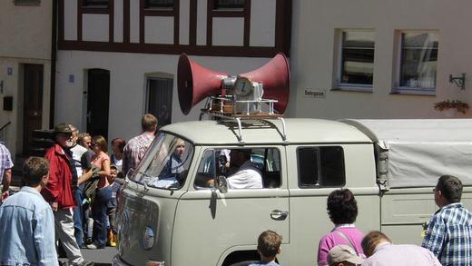
[[[301,188],[337,187],[346,183],[344,153],[339,146],[297,149]]]

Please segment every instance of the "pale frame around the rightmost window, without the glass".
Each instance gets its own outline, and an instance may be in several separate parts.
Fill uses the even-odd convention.
[[[418,94],[418,95],[436,95],[436,88],[438,86],[437,80],[435,81],[434,88],[428,87],[408,87],[400,85],[401,75],[401,57],[403,50],[403,34],[437,34],[439,38],[438,30],[397,30],[395,33],[395,59],[394,59],[394,82],[392,86],[392,94]],[[439,50],[439,48],[438,48]],[[438,79],[438,60],[436,61],[436,78]]]

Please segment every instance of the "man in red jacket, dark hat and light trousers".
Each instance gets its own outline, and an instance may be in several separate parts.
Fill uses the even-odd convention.
[[[73,156],[74,126],[60,123],[54,128],[54,145],[47,150],[44,158],[49,160],[49,182],[41,191],[44,200],[51,204],[54,212],[56,238],[64,247],[67,258],[72,265],[93,265],[84,261],[82,253],[74,238],[73,209],[75,207],[73,179],[77,178]]]

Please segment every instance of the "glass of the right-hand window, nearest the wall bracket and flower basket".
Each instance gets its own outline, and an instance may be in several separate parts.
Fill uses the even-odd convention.
[[[435,91],[438,34],[402,33],[399,90]]]

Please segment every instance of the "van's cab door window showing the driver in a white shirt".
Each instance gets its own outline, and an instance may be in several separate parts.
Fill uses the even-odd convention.
[[[230,189],[279,188],[280,152],[275,148],[208,149],[195,177],[196,188],[209,188],[215,176],[227,178]]]

